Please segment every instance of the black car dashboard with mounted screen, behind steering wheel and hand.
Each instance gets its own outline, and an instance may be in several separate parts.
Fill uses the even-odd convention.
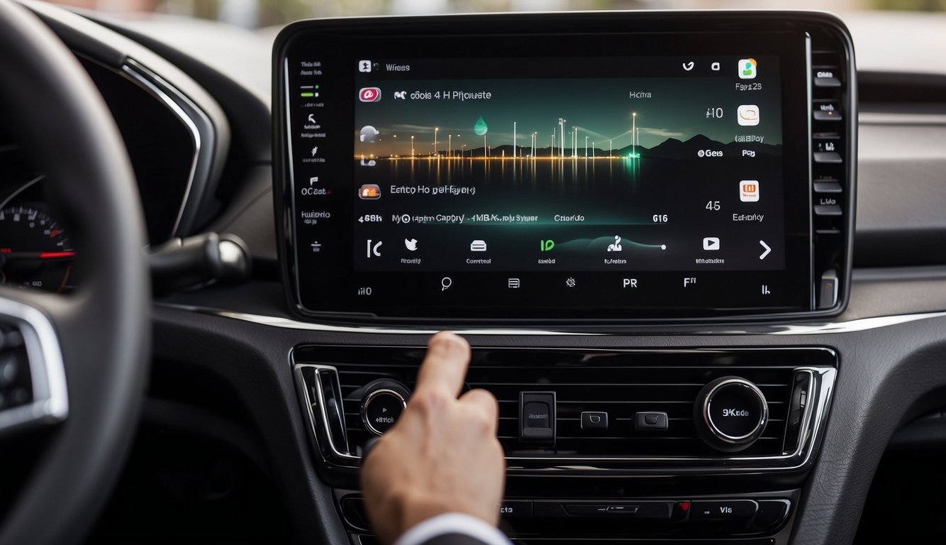
[[[156,296],[130,462],[147,429],[237,452],[279,505],[243,539],[377,542],[360,459],[445,328],[499,400],[514,543],[862,541],[887,449],[946,436],[946,79],[858,70],[832,15],[300,22],[270,101],[146,24],[27,6],[110,106],[152,248],[246,243],[252,278]],[[13,136],[3,281],[68,292],[82,249]],[[91,542],[148,533],[115,522],[140,483]]]

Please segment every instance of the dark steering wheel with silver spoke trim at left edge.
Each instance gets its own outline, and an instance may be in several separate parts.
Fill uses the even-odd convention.
[[[0,338],[22,345],[32,388],[26,404],[0,410],[0,452],[17,448],[16,430],[50,428],[0,526],[0,544],[72,543],[112,489],[148,379],[144,215],[114,118],[88,74],[9,0],[0,0],[0,110],[7,132],[46,175],[80,274],[68,295],[0,290]]]

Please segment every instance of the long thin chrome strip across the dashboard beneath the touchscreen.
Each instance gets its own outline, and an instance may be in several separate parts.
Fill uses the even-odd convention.
[[[242,322],[250,322],[257,325],[269,325],[271,327],[281,327],[284,329],[298,329],[303,331],[323,331],[328,333],[362,333],[375,335],[432,335],[439,329],[424,329],[411,327],[396,327],[382,325],[330,325],[314,322],[300,322],[291,318],[282,316],[267,316],[263,314],[251,314],[247,312],[237,312],[233,310],[223,310],[220,308],[195,307],[188,305],[176,305],[167,303],[156,303],[158,307],[172,308],[175,310],[184,310],[198,314],[207,314],[219,316],[221,318],[230,318]],[[827,335],[835,333],[853,333],[857,331],[867,331],[869,329],[879,329],[891,325],[909,324],[920,320],[929,320],[932,318],[946,317],[946,311],[922,312],[917,314],[895,314],[891,316],[878,316],[873,318],[861,318],[851,320],[850,322],[822,323],[822,324],[755,324],[752,329],[738,327],[726,328],[720,325],[713,329],[711,325],[627,325],[624,330],[610,331],[577,331],[566,328],[538,329],[529,326],[523,327],[505,327],[505,328],[467,328],[451,329],[456,333],[467,336],[605,336],[605,335],[626,335],[630,332],[635,334],[644,334],[653,332],[655,334],[678,333],[681,335]],[[608,326],[613,327],[613,326]]]

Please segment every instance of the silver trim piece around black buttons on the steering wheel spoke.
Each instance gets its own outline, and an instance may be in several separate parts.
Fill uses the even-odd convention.
[[[12,323],[23,335],[33,389],[31,403],[0,411],[0,433],[65,420],[69,398],[62,352],[53,325],[42,311],[2,296],[0,320]]]

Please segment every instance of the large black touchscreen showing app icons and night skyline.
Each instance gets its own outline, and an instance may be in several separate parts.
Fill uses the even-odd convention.
[[[277,184],[299,309],[813,308],[805,32],[411,21],[313,23],[277,44]]]

